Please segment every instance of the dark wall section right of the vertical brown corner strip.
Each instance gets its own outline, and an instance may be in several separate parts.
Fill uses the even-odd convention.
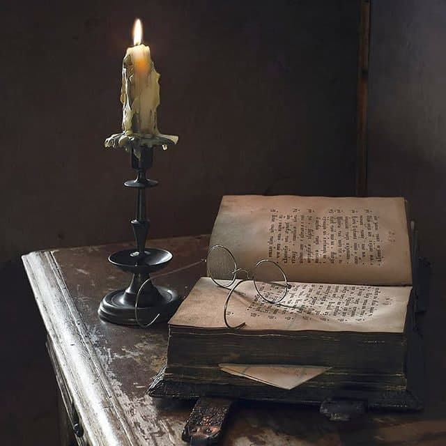
[[[369,194],[402,195],[431,261],[424,330],[427,375],[444,364],[446,334],[446,2],[374,0],[369,72]],[[425,412],[446,411],[426,380]],[[440,412],[438,406],[441,406]]]

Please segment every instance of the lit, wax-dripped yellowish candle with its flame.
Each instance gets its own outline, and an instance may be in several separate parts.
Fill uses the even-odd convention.
[[[160,75],[155,70],[151,49],[142,42],[142,24],[137,19],[133,27],[133,47],[123,59],[123,132],[159,135],[156,109],[160,105]]]

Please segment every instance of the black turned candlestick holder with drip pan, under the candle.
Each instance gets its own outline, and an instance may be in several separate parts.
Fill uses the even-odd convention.
[[[130,222],[136,248],[123,249],[109,256],[113,265],[125,272],[131,272],[133,277],[127,288],[108,293],[100,302],[98,314],[105,321],[122,325],[146,325],[152,321],[167,321],[180,304],[176,291],[165,286],[155,286],[148,280],[151,273],[164,268],[172,259],[172,254],[166,249],[146,248],[150,227],[150,220],[146,217],[146,189],[157,185],[157,181],[146,178],[146,171],[153,164],[153,149],[168,144],[173,144],[173,141],[141,134],[113,134],[105,141],[106,147],[125,148],[130,153],[132,168],[137,172],[134,180],[124,183],[126,187],[136,189],[137,192],[136,215]],[[143,284],[144,289],[139,292]]]

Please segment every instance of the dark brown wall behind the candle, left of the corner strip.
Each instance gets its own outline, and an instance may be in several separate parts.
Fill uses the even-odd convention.
[[[19,256],[131,238],[133,173],[102,144],[120,130],[134,17],[162,75],[160,130],[180,135],[151,171],[160,237],[210,232],[223,194],[354,194],[359,1],[22,1],[0,13],[0,435],[57,444]]]

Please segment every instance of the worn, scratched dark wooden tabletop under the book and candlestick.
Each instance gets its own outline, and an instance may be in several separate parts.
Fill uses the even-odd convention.
[[[205,256],[208,236],[152,240],[149,245],[173,252],[166,269],[173,270]],[[146,394],[164,364],[167,325],[142,330],[98,318],[102,297],[129,282],[129,275],[107,261],[125,246],[33,252],[24,256],[24,264],[89,443],[182,445],[181,431],[193,403]],[[187,295],[204,274],[201,264],[156,283]],[[438,399],[431,397],[422,413],[369,413],[337,424],[316,408],[242,402],[229,419],[222,445],[446,445],[445,369],[443,360],[428,375],[429,393]]]

